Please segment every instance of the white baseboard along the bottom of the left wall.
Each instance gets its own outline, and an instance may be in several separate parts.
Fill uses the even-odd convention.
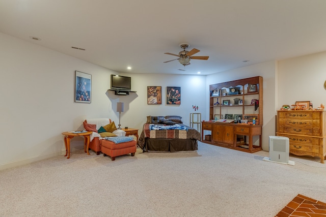
[[[84,149],[84,145],[72,147],[70,150],[70,153],[73,151],[76,151],[76,150],[80,150],[80,148]],[[53,153],[42,154],[39,156],[33,156],[31,158],[25,158],[25,159],[20,159],[18,161],[0,164],[0,171],[9,169],[9,168],[13,168],[13,167],[17,167],[17,166],[21,166],[21,165],[25,165],[25,164],[31,164],[33,162],[37,162],[37,161],[44,160],[47,158],[53,158],[53,157],[57,157],[60,155],[64,156],[65,154],[66,154],[66,149],[63,149],[61,151],[57,151],[57,152],[53,152]],[[65,157],[65,159],[66,159],[66,157]]]

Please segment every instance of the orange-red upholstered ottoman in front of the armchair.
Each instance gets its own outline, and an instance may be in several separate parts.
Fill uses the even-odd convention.
[[[136,141],[134,140],[116,144],[112,141],[102,139],[101,143],[103,156],[110,156],[112,161],[116,160],[117,156],[122,156],[128,153],[131,153],[131,156],[134,156],[134,153],[136,152]]]

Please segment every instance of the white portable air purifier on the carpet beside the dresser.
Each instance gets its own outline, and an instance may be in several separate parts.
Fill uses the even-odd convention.
[[[290,140],[284,136],[269,136],[269,160],[289,163]]]

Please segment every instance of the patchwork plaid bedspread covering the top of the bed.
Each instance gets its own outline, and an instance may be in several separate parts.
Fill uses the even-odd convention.
[[[137,142],[137,145],[144,149],[145,146],[145,138],[151,138],[151,139],[196,139],[200,140],[200,133],[195,130],[194,128],[188,127],[183,125],[182,123],[178,123],[178,125],[181,127],[180,129],[184,130],[178,130],[178,129],[172,129],[172,130],[150,130],[150,123],[145,123],[143,127],[143,131],[141,133],[141,136],[139,137],[139,140]],[[155,124],[155,126],[160,126],[159,124]],[[163,126],[163,125],[161,125]],[[159,127],[158,127],[159,128]],[[188,130],[186,130],[188,129]]]

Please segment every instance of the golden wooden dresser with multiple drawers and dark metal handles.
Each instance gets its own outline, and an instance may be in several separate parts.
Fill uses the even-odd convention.
[[[277,111],[277,136],[290,140],[290,153],[326,158],[326,115],[324,111]]]

